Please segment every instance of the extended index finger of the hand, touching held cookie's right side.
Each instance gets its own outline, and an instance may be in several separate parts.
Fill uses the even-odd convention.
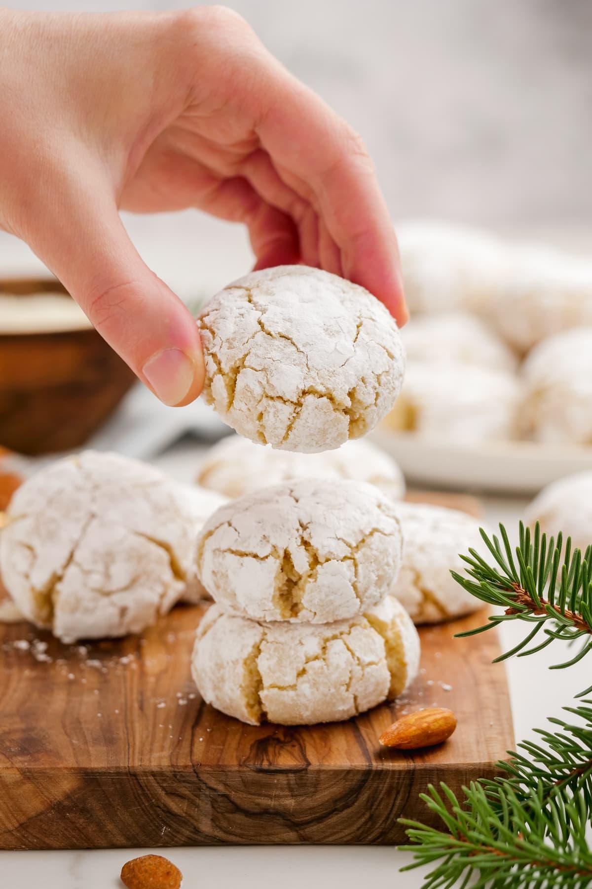
[[[339,247],[343,274],[407,321],[399,248],[364,143],[295,77],[282,72],[257,125],[278,170],[299,180]],[[312,192],[312,195],[311,195]]]

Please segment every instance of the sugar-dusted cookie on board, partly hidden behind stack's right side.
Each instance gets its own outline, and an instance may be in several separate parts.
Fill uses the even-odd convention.
[[[437,623],[477,611],[479,600],[462,589],[451,570],[464,573],[466,555],[482,543],[476,519],[456,509],[399,503],[403,561],[391,595],[415,623]]]

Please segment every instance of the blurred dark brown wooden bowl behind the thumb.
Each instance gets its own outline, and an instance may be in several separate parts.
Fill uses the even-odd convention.
[[[0,294],[45,292],[66,291],[55,278],[0,280]],[[134,380],[92,328],[0,332],[0,445],[26,454],[80,447]]]

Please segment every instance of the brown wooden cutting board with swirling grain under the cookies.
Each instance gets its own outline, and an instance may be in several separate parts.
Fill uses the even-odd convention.
[[[400,843],[400,815],[430,820],[430,782],[459,791],[513,747],[495,632],[453,638],[483,613],[421,630],[403,699],[297,728],[203,704],[188,670],[201,613],[179,606],[142,637],[85,646],[0,626],[0,849]],[[446,744],[380,748],[394,718],[430,705],[458,718]]]

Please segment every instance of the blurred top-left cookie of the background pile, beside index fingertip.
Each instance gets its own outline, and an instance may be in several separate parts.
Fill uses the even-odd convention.
[[[501,239],[438,220],[402,221],[396,229],[412,314],[476,312],[495,299],[509,261]]]

